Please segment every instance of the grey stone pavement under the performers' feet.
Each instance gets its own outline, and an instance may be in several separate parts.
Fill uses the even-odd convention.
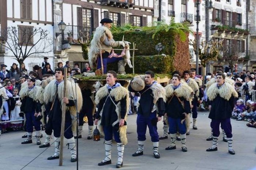
[[[255,128],[246,127],[246,122],[231,119],[233,126],[233,148],[236,155],[230,155],[227,150],[227,143],[219,141],[218,151],[206,152],[211,146],[211,141],[206,141],[210,135],[210,119],[208,112],[199,112],[198,130],[190,130],[187,136],[188,152],[181,151],[180,141],[176,142],[176,150],[166,151],[170,139],[165,139],[159,143],[160,159],[153,157],[153,146],[147,131],[147,140],[144,146],[144,155],[132,157],[137,149],[136,135],[136,115],[128,116],[128,145],[125,146],[124,166],[122,169],[167,169],[167,170],[256,170],[256,135]],[[158,123],[158,131],[161,136],[163,133],[162,123]],[[84,124],[82,139],[79,139],[79,169],[115,169],[117,161],[116,144],[112,148],[112,165],[99,167],[97,163],[104,158],[103,139],[95,142],[87,140],[87,123]],[[19,170],[27,163],[39,156],[27,165],[24,170],[75,170],[76,163],[70,162],[70,153],[64,145],[63,166],[60,167],[59,159],[48,161],[46,158],[54,153],[54,144],[45,149],[39,149],[33,137],[32,144],[21,145],[21,136],[24,132],[10,132],[3,134],[0,139],[0,169]],[[44,137],[41,139],[43,142]],[[220,135],[222,139],[222,134]]]

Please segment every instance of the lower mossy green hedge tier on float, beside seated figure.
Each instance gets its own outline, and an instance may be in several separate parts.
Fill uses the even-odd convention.
[[[135,74],[144,74],[148,70],[160,74],[169,74],[174,70],[173,58],[169,55],[135,56],[134,65]],[[109,63],[107,70],[117,71],[117,63]],[[132,68],[129,68],[128,65],[125,66],[125,71],[127,74],[132,74]]]

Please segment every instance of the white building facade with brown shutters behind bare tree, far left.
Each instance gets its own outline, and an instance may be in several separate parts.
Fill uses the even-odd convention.
[[[27,70],[33,70],[33,66],[41,66],[43,58],[48,57],[48,62],[53,66],[54,51],[53,51],[53,3],[52,0],[1,0],[0,2],[0,27],[1,27],[1,40],[4,40],[4,31],[7,27],[16,27],[33,31],[37,28],[48,30],[48,39],[51,41],[38,43],[33,48],[37,51],[42,51],[46,47],[47,53],[32,54],[24,61]],[[19,33],[17,33],[18,35]],[[20,35],[18,35],[20,38]],[[33,37],[32,44],[36,44],[39,35]],[[8,39],[7,39],[8,41]],[[49,44],[47,44],[49,43]],[[27,46],[30,50],[31,46]],[[34,51],[32,49],[31,51]],[[25,47],[22,48],[25,51]],[[10,69],[12,63],[18,62],[14,59],[14,54],[8,48],[1,47],[0,62],[7,65]]]

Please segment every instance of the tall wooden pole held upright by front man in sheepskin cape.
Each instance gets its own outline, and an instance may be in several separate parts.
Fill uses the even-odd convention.
[[[67,72],[68,68],[64,68],[64,98],[67,97]],[[64,129],[65,129],[65,115],[66,115],[66,104],[62,102],[62,116],[61,116],[61,131],[60,131],[60,160],[59,166],[62,166],[62,158],[63,158],[63,142],[64,142]]]

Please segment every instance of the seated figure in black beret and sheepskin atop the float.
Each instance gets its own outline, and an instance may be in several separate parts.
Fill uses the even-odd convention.
[[[102,61],[103,61],[103,73],[107,72],[107,63],[118,62],[118,74],[125,74],[124,59],[120,56],[111,55],[113,47],[125,46],[124,41],[115,41],[110,31],[113,21],[109,18],[103,18],[101,20],[101,26],[96,28],[93,39],[91,40],[91,48],[89,51],[89,62],[91,68],[96,67],[95,74],[101,75],[101,58],[99,57],[99,44],[102,49]],[[106,50],[107,49],[107,50]]]

